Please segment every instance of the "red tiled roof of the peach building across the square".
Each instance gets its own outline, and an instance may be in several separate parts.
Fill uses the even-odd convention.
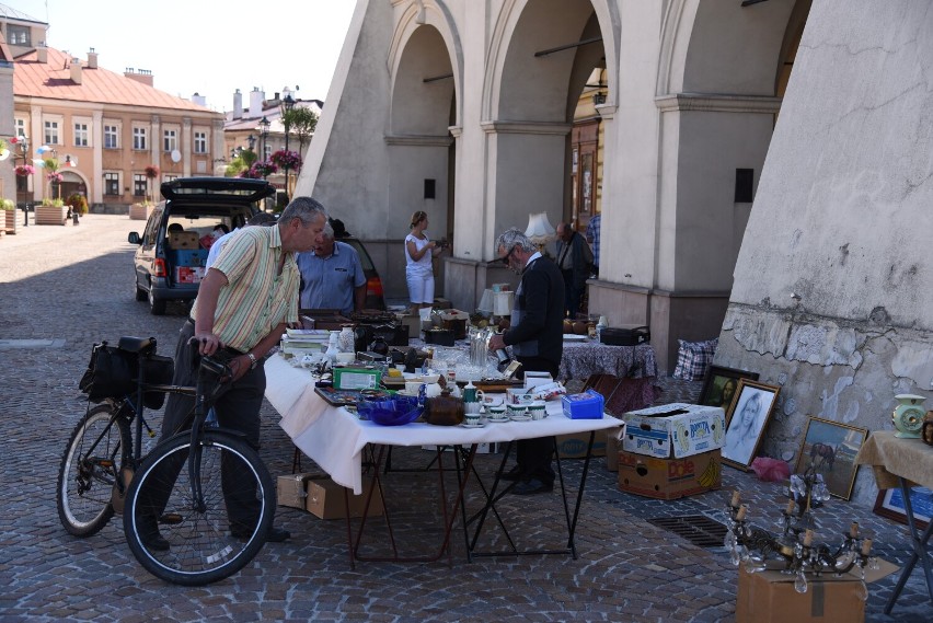
[[[35,50],[16,58],[13,70],[15,96],[212,112],[100,66],[90,69],[85,62],[82,62],[81,84],[76,84],[71,81],[69,56],[50,47],[46,50],[48,62],[39,62]]]

